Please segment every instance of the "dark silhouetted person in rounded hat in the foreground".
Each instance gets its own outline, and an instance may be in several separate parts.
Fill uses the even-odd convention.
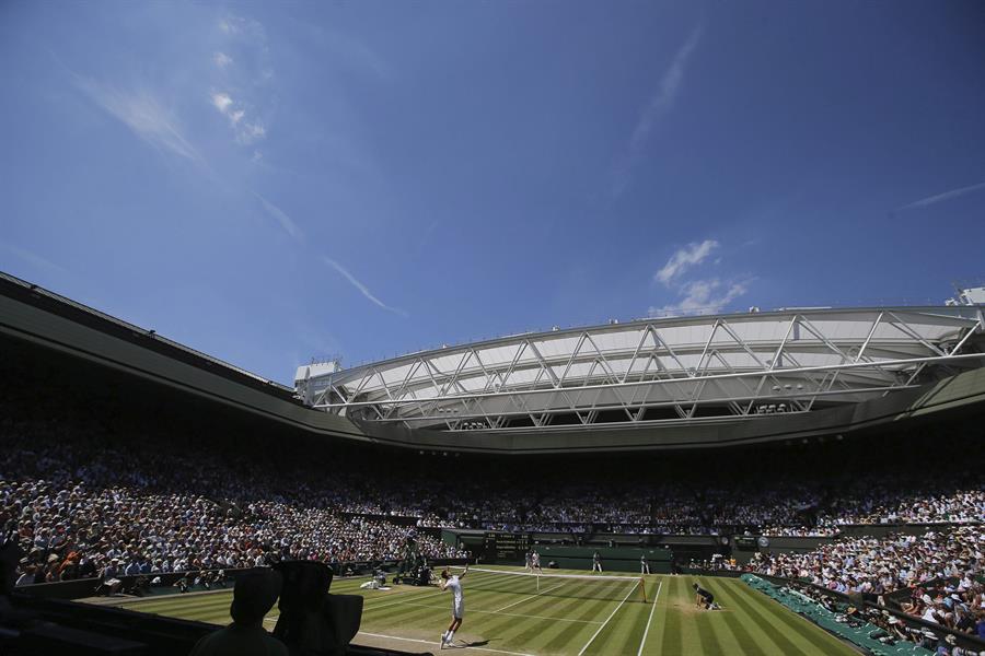
[[[288,656],[282,642],[264,629],[264,617],[280,596],[283,581],[262,570],[236,578],[229,614],[233,623],[202,637],[189,656]]]

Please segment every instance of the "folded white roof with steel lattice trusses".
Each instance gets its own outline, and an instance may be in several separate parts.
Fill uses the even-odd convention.
[[[752,419],[981,366],[983,327],[981,306],[641,319],[413,353],[301,376],[297,389],[328,412],[452,431]]]

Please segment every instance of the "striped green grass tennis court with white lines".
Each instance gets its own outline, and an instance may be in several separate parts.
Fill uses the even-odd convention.
[[[647,576],[647,602],[633,591],[631,582],[598,578],[602,581],[542,578],[537,589],[519,577],[472,571],[463,581],[465,621],[455,635],[455,648],[476,656],[856,654],[738,579],[700,577],[702,586],[722,606],[722,610],[703,611],[694,607],[691,584],[698,579],[692,576]],[[439,635],[451,619],[451,594],[437,587],[359,589],[367,579],[338,578],[332,584],[333,593],[366,597],[361,630],[354,642],[438,653]],[[231,596],[231,590],[169,595],[119,606],[227,624]],[[268,629],[276,612],[275,608],[266,620]]]

